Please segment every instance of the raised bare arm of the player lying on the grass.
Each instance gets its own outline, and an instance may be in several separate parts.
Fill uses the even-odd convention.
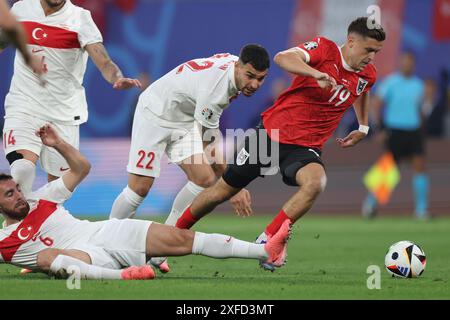
[[[69,164],[70,170],[62,177],[64,185],[69,191],[75,190],[81,181],[88,175],[91,164],[89,161],[73,146],[64,141],[49,124],[41,127],[36,135],[42,140],[42,143],[58,151]]]

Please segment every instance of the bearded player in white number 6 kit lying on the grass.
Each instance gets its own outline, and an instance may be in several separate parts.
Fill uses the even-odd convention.
[[[25,198],[11,176],[0,174],[0,262],[67,276],[78,268],[83,279],[153,279],[146,265],[152,256],[199,254],[213,258],[262,259],[281,266],[290,231],[286,223],[267,244],[254,244],[221,234],[181,230],[144,220],[89,222],[63,207],[90,170],[88,160],[45,125],[36,133],[54,148],[70,170]]]

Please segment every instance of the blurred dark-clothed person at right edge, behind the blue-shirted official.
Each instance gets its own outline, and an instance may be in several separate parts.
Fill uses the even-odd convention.
[[[422,112],[426,119],[427,135],[442,138],[445,135],[445,118],[449,107],[447,94],[449,74],[447,70],[442,70],[438,83],[437,85],[432,79],[425,81]]]

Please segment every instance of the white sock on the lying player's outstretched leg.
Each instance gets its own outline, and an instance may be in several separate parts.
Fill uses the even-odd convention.
[[[268,258],[263,244],[242,241],[218,233],[196,232],[192,253],[212,258],[246,258],[259,260]]]

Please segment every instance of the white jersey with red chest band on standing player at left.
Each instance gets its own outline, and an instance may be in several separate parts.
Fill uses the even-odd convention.
[[[91,13],[69,0],[57,12],[45,16],[39,0],[16,2],[11,12],[23,24],[28,49],[45,57],[47,85],[24,63],[20,54],[14,60],[14,75],[5,99],[6,117],[30,114],[44,120],[77,125],[87,121],[83,87],[88,54],[84,47],[102,42]]]

